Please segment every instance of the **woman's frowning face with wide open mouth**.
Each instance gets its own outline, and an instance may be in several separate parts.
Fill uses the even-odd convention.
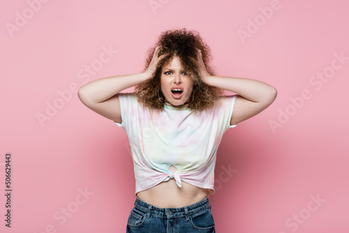
[[[161,70],[161,91],[172,105],[181,105],[191,97],[193,80],[181,66],[179,57],[173,56]],[[167,104],[167,103],[166,103]],[[186,107],[187,105],[183,105]]]

